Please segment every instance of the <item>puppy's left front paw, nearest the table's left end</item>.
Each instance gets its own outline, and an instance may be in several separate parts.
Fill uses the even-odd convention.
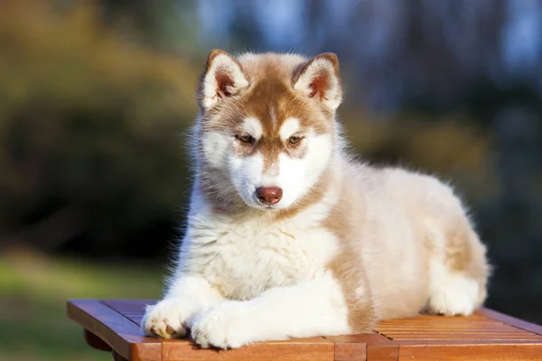
[[[147,306],[141,321],[141,329],[149,336],[158,338],[183,338],[186,336],[187,318],[182,300],[164,299]]]

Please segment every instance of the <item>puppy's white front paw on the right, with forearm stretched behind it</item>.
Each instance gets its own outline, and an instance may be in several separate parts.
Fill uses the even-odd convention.
[[[204,310],[192,323],[192,339],[202,347],[238,348],[251,342],[247,335],[247,308],[241,302],[227,301]],[[245,335],[245,336],[244,336]]]

